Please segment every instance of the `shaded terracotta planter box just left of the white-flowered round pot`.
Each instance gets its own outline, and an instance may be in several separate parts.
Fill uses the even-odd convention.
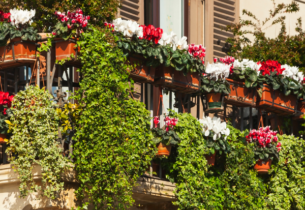
[[[199,91],[199,79],[198,72],[184,75],[182,71],[176,71],[173,67],[161,65],[156,68],[154,84],[181,93],[196,93]]]

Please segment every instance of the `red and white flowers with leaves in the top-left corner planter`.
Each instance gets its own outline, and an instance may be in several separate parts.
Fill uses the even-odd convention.
[[[0,14],[0,46],[5,46],[9,40],[18,37],[29,41],[41,39],[37,30],[30,26],[35,10],[12,9],[9,13],[0,11]]]

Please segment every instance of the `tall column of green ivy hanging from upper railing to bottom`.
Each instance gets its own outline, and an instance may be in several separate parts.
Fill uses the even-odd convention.
[[[128,209],[132,189],[156,154],[149,112],[128,98],[128,66],[110,31],[82,34],[76,95],[82,107],[73,140],[77,198],[95,209]]]

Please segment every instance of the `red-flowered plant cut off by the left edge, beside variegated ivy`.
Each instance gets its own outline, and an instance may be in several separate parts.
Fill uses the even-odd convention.
[[[6,120],[9,120],[12,115],[11,106],[14,96],[9,96],[8,92],[0,92],[0,144],[6,143],[4,140],[8,138],[8,125]]]

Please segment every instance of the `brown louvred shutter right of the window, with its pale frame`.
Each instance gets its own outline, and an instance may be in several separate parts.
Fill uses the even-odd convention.
[[[214,57],[224,57],[229,49],[227,38],[233,37],[231,32],[223,30],[227,25],[235,23],[239,18],[239,0],[207,0],[205,43],[208,62]]]

